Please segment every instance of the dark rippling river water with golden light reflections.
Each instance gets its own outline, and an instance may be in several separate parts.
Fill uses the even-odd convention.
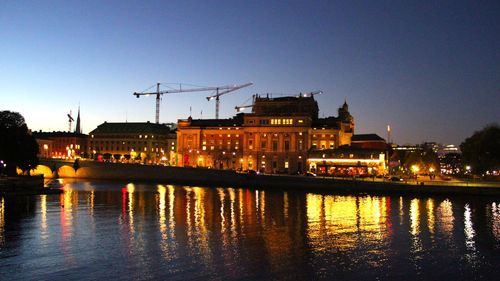
[[[0,280],[499,280],[500,199],[69,182],[0,197]]]

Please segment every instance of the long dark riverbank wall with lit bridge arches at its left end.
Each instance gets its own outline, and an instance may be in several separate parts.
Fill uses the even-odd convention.
[[[48,170],[48,171],[47,171]],[[420,185],[370,180],[345,180],[301,175],[250,175],[228,170],[117,164],[80,161],[76,166],[62,166],[57,171],[38,167],[33,173],[45,178],[75,178],[89,180],[119,180],[131,182],[158,182],[191,186],[245,187],[258,189],[296,189],[337,193],[431,194],[431,195],[486,195],[500,196],[497,186],[458,186],[424,183]]]

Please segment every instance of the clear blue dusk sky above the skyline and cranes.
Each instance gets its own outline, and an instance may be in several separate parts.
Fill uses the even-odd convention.
[[[500,1],[2,1],[0,110],[33,130],[154,122],[156,82],[254,86],[221,98],[323,90],[356,133],[459,144],[500,122]],[[154,89],[152,89],[154,90]],[[161,122],[213,118],[207,93],[165,95]],[[203,114],[203,115],[201,115]]]

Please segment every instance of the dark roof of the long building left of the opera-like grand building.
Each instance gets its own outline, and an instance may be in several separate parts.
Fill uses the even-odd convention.
[[[165,124],[150,122],[104,122],[92,130],[90,134],[168,134],[169,132],[170,128]]]

